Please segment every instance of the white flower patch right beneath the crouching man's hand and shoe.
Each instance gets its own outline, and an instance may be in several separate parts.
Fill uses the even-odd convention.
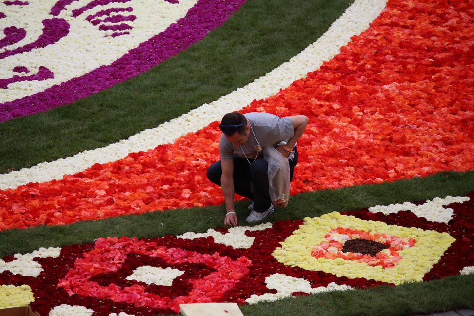
[[[267,228],[272,228],[272,223],[265,223],[255,225],[253,227],[249,226],[237,226],[229,228],[229,232],[226,234],[222,234],[217,232],[213,229],[208,229],[206,233],[193,233],[188,232],[184,233],[183,235],[177,236],[178,238],[183,239],[194,239],[200,237],[209,237],[212,236],[214,238],[214,242],[224,244],[226,246],[231,246],[234,249],[242,248],[247,249],[253,245],[253,241],[255,237],[249,237],[245,235],[245,231],[261,231]]]

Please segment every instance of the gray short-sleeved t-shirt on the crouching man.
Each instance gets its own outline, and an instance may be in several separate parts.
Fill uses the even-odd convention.
[[[234,151],[241,158],[245,158],[246,155],[249,159],[255,159],[257,157],[257,151],[255,150],[257,143],[260,147],[265,148],[274,146],[282,140],[288,141],[294,135],[295,131],[291,118],[280,118],[262,112],[246,113],[244,116],[250,122],[249,139],[244,145],[235,148],[234,144],[229,142],[222,134],[219,141],[221,160],[233,159]],[[262,152],[258,154],[258,158],[262,158]]]

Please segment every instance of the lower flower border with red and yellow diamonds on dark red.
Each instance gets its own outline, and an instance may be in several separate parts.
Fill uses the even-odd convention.
[[[179,312],[183,303],[254,304],[467,274],[474,271],[473,220],[471,192],[252,227],[42,248],[0,259],[0,305],[29,303],[41,315],[151,316]],[[359,245],[345,249],[351,240]],[[368,242],[383,249],[371,252]]]

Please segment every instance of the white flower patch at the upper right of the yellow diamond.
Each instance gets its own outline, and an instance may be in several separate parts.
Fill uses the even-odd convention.
[[[433,200],[427,200],[422,205],[415,205],[410,202],[403,204],[390,204],[388,206],[369,207],[372,213],[382,212],[384,214],[396,213],[399,211],[411,211],[418,217],[424,217],[429,221],[447,223],[453,217],[454,210],[452,208],[444,208],[444,206],[452,203],[462,203],[469,201],[469,197],[451,197],[445,198],[435,197]]]

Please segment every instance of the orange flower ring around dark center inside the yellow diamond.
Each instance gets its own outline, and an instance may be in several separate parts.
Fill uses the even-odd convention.
[[[416,240],[413,238],[403,238],[396,236],[387,236],[386,234],[370,234],[370,232],[356,230],[353,228],[331,229],[324,236],[326,241],[314,246],[311,255],[315,258],[354,260],[360,263],[366,263],[369,266],[382,266],[384,268],[392,268],[402,259],[398,251],[405,248],[413,247]],[[386,249],[379,251],[375,256],[362,254],[360,252],[344,252],[344,243],[347,240],[364,239],[379,242],[388,246]]]

